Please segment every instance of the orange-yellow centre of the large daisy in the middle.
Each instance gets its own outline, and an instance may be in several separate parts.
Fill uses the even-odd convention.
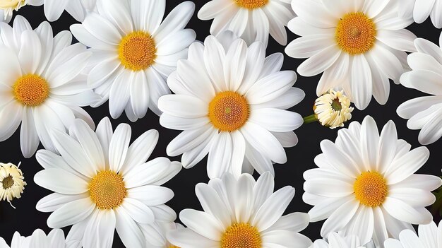
[[[249,119],[249,104],[236,92],[217,93],[209,104],[209,119],[220,131],[235,131]]]

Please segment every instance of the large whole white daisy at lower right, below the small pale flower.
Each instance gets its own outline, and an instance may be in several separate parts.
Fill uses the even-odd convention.
[[[433,175],[414,174],[429,158],[422,146],[410,150],[398,140],[390,121],[378,133],[376,122],[366,117],[338,131],[335,143],[322,141],[316,156],[319,168],[304,172],[303,199],[313,205],[311,221],[325,220],[321,235],[342,232],[365,244],[373,238],[381,247],[388,237],[398,237],[411,224],[428,224],[426,210],[435,201],[431,191],[442,185]]]

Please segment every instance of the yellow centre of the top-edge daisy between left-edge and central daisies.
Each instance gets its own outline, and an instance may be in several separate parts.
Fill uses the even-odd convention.
[[[155,40],[148,33],[136,31],[126,35],[118,46],[118,57],[126,69],[141,71],[157,58]]]

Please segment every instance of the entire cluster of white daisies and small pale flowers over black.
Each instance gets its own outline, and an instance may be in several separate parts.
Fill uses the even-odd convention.
[[[442,246],[426,208],[442,205],[442,190],[432,193],[442,179],[416,173],[429,149],[399,139],[393,121],[379,131],[367,115],[344,127],[352,103],[386,104],[392,80],[430,94],[397,112],[421,129],[423,145],[441,138],[442,49],[406,28],[429,16],[441,28],[442,0],[210,0],[196,13],[213,19],[202,41],[186,28],[196,5],[170,3],[0,0],[0,141],[20,128],[21,154],[43,168],[33,181],[52,191],[36,203],[52,231],[16,232],[11,247],[110,248],[114,233],[135,248]],[[43,6],[51,22],[66,11],[79,23],[58,34],[46,21],[33,29],[13,15],[28,6]],[[299,36],[288,45],[285,27]],[[282,69],[285,55],[266,54],[269,37],[306,59],[301,76],[322,73],[312,115],[292,111],[306,94],[293,87],[297,73]],[[95,125],[83,107],[105,104],[113,119],[124,112],[137,122],[151,110],[181,131],[165,151],[180,161],[149,160],[155,129],[132,138],[129,124]],[[287,163],[294,130],[309,122],[342,129],[304,171],[302,200],[313,207],[286,213],[295,189],[275,189],[274,165]],[[209,181],[195,186],[203,211],[182,210],[181,225],[165,183],[206,156]],[[0,201],[11,206],[31,186],[28,165],[19,166],[0,163]],[[321,220],[323,239],[300,233]],[[3,237],[0,247],[10,247]]]

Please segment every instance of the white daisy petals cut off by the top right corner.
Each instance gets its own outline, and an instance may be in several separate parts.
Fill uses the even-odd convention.
[[[442,28],[441,0],[402,0],[398,10],[400,16],[414,18],[416,23],[423,23],[430,16],[433,25]]]

